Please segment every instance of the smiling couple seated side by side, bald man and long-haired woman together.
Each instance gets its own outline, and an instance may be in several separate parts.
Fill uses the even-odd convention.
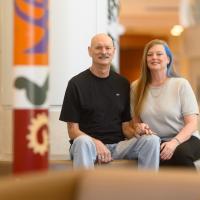
[[[73,166],[137,159],[139,169],[194,168],[199,109],[189,82],[173,70],[168,45],[156,39],[145,46],[140,77],[131,86],[110,69],[114,52],[108,35],[95,35],[91,67],[68,83],[60,120],[67,122]]]

